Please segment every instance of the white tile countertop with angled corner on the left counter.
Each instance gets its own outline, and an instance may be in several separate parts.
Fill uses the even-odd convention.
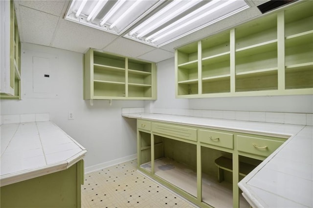
[[[3,124],[0,186],[67,169],[86,152],[50,121]]]

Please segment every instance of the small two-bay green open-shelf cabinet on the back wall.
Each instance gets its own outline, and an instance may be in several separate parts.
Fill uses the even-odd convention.
[[[84,99],[156,100],[156,63],[89,49]]]

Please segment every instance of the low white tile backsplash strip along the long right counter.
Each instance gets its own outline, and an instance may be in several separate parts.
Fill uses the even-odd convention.
[[[122,114],[144,112],[144,108],[122,108]],[[280,124],[313,125],[312,113],[280,113],[175,108],[153,108],[153,113]]]

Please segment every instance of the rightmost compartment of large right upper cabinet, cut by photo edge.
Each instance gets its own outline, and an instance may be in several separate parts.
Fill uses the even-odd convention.
[[[287,9],[284,21],[285,89],[310,91],[313,88],[313,1]]]

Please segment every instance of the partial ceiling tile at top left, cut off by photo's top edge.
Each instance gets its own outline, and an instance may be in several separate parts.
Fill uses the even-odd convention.
[[[19,0],[16,3],[51,15],[61,16],[67,0]]]

